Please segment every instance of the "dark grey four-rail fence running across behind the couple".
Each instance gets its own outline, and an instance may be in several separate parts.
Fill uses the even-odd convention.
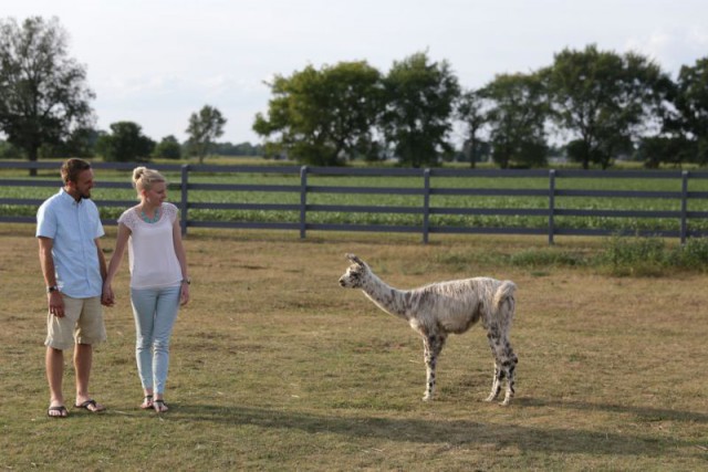
[[[96,169],[132,170],[135,164],[94,162]],[[58,170],[58,162],[17,162],[0,161],[2,169],[51,169]],[[638,234],[658,235],[665,238],[679,238],[684,243],[690,237],[708,235],[708,227],[705,224],[708,218],[708,171],[594,171],[594,170],[497,170],[497,169],[396,169],[396,168],[329,168],[329,167],[299,167],[299,166],[210,166],[210,165],[154,165],[163,172],[171,172],[178,176],[178,181],[171,183],[171,188],[179,191],[179,200],[175,204],[181,211],[183,233],[188,228],[239,228],[239,229],[277,229],[299,231],[301,238],[305,238],[308,231],[361,231],[361,232],[406,232],[420,233],[423,242],[428,242],[429,235],[435,233],[482,233],[482,234],[538,234],[548,235],[549,243],[554,242],[555,235],[610,235],[610,234]],[[4,178],[0,172],[0,222],[34,222],[34,211],[43,199],[35,198],[3,198],[8,192],[3,189],[11,187],[45,188],[60,187],[61,182],[55,178],[23,179],[14,177]],[[209,177],[235,176],[241,179],[256,176],[287,177],[283,183],[217,183],[209,182]],[[331,179],[327,182],[313,182],[323,178],[362,178],[362,182],[369,182],[371,178],[386,179],[385,186],[341,185]],[[393,185],[396,179],[404,179],[406,185]],[[419,180],[418,180],[419,179]],[[539,188],[504,188],[489,186],[470,186],[470,181],[507,181],[506,179],[534,179]],[[675,190],[632,190],[632,189],[596,189],[589,182],[607,182],[611,179],[624,179],[622,182],[633,179],[649,180],[652,182],[668,181]],[[129,189],[131,185],[125,176],[122,181],[110,181],[98,175],[100,188]],[[175,179],[170,179],[175,180]],[[206,180],[206,181],[205,181]],[[336,180],[336,179],[335,179]],[[440,185],[436,185],[437,182]],[[348,181],[348,180],[347,180]],[[454,186],[450,186],[450,182]],[[467,183],[466,186],[458,182]],[[559,186],[559,182],[573,182],[570,186]],[[691,189],[690,185],[698,187]],[[317,183],[317,185],[313,185]],[[326,183],[326,185],[322,185]],[[346,183],[346,182],[344,182]],[[446,183],[446,185],[441,185]],[[458,185],[455,185],[458,183]],[[590,187],[585,188],[583,186]],[[568,188],[566,188],[568,187]],[[572,188],[570,188],[572,187]],[[689,191],[689,189],[691,189]],[[284,201],[280,202],[225,202],[221,196],[251,195],[253,192],[282,195]],[[196,195],[207,195],[208,201],[198,201]],[[218,196],[218,197],[214,197]],[[316,196],[323,196],[323,201],[312,201]],[[374,196],[382,198],[382,204],[352,204],[337,199],[361,196]],[[288,197],[290,202],[287,202]],[[483,207],[473,204],[485,198],[500,198],[500,201],[514,201],[514,204]],[[413,199],[415,204],[388,204],[387,199]],[[446,199],[446,204],[436,202],[436,199]],[[322,200],[320,198],[319,200]],[[559,200],[564,204],[559,204]],[[627,200],[667,200],[676,209],[616,209],[613,204],[607,208],[597,208],[593,203],[587,208],[587,201],[627,201]],[[452,201],[452,203],[449,203]],[[519,202],[535,202],[539,208],[528,208]],[[542,206],[541,203],[542,202]],[[135,204],[135,200],[97,199],[100,208],[127,208]],[[8,214],[11,207],[29,207],[31,214]],[[696,209],[693,209],[696,207]],[[690,210],[689,210],[690,209]],[[28,210],[29,211],[29,210]],[[264,213],[289,212],[295,214],[290,221],[261,221],[250,219],[239,221],[233,217],[239,211],[257,211]],[[192,218],[194,213],[209,212],[211,217]],[[214,217],[214,212],[219,218]],[[360,213],[412,216],[415,222],[406,223],[354,223],[341,221],[321,221],[314,218],[316,214],[344,213],[347,216]],[[441,223],[438,218],[485,218],[496,217],[501,222],[499,225],[476,225],[460,223]],[[543,224],[510,224],[512,218],[542,219]],[[674,227],[667,229],[632,229],[632,228],[574,228],[569,224],[559,224],[559,219],[593,218],[623,219],[664,219],[673,221]],[[104,223],[115,224],[115,218],[104,218]]]

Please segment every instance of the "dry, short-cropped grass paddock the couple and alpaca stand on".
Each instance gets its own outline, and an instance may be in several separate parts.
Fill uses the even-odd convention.
[[[192,302],[173,338],[164,416],[137,408],[127,264],[92,391],[108,411],[46,417],[45,294],[31,225],[0,225],[0,468],[6,470],[697,471],[708,466],[708,275],[612,277],[520,266],[597,239],[190,231]],[[107,228],[104,248],[115,240]],[[481,401],[480,327],[454,336],[438,398],[421,343],[358,291],[345,252],[412,287],[475,275],[519,285],[510,407]],[[72,399],[72,368],[65,392]]]

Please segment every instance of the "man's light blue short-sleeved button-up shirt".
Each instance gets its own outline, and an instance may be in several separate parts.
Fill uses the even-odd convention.
[[[74,200],[62,188],[37,212],[37,237],[53,240],[56,284],[73,298],[101,296],[103,277],[96,238],[104,235],[96,203]]]

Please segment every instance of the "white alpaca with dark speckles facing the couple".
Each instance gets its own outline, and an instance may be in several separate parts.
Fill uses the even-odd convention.
[[[424,400],[431,400],[435,390],[435,367],[450,333],[462,334],[481,319],[494,357],[491,394],[493,401],[507,378],[501,405],[509,405],[514,395],[514,369],[519,361],[509,343],[514,313],[514,291],[511,281],[475,277],[438,282],[414,290],[397,290],[378,279],[369,266],[354,254],[346,254],[352,265],[340,279],[345,289],[361,289],[384,312],[408,322],[423,337],[427,384]]]

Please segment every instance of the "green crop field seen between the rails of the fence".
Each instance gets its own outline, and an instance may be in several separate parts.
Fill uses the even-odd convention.
[[[45,171],[46,172],[46,171]],[[6,172],[7,174],[7,172]],[[17,172],[15,172],[17,174]],[[52,175],[52,174],[45,174]],[[56,172],[53,172],[55,176]],[[179,181],[179,175],[168,174],[173,182]],[[24,178],[13,177],[13,178]],[[102,170],[97,176],[97,185],[94,189],[94,199],[126,200],[135,199],[132,189],[101,188],[101,182],[127,182],[128,171]],[[290,186],[298,188],[300,177],[280,174],[195,174],[190,176],[190,183],[220,183],[220,185],[268,185]],[[421,189],[423,179],[418,177],[350,177],[350,176],[312,176],[308,180],[309,186],[325,188],[412,188]],[[437,189],[507,189],[510,191],[521,189],[548,190],[548,178],[456,178],[433,177],[430,186]],[[680,179],[591,179],[572,178],[558,179],[558,190],[633,190],[633,191],[671,191],[680,192]],[[0,187],[0,197],[4,198],[35,198],[44,199],[56,191],[55,188],[42,187]],[[178,200],[177,188],[171,189],[173,199]],[[708,179],[694,179],[689,181],[688,191],[708,191]],[[300,204],[298,191],[225,191],[225,190],[190,190],[190,202],[209,203],[271,203],[271,204]],[[398,207],[412,210],[420,209],[421,196],[410,195],[371,195],[371,193],[331,193],[311,192],[308,195],[308,204],[337,204],[337,206],[374,206]],[[448,196],[433,195],[430,207],[436,209],[548,209],[546,196]],[[615,198],[615,197],[556,197],[556,209],[571,210],[624,210],[624,211],[680,211],[678,199],[665,198]],[[708,199],[691,199],[688,202],[688,211],[708,211]],[[115,219],[123,208],[103,207],[104,218]],[[0,212],[7,216],[33,216],[35,208],[32,206],[0,206]],[[189,211],[189,219],[195,221],[238,221],[238,222],[292,222],[300,219],[299,210],[262,210],[262,209],[194,209]],[[408,213],[396,212],[367,212],[367,211],[309,211],[309,223],[346,223],[346,224],[383,224],[420,227],[423,214],[418,211]],[[532,228],[545,229],[549,220],[546,216],[525,214],[431,214],[430,224],[435,227],[460,228]],[[678,218],[625,218],[600,216],[556,216],[554,225],[559,229],[603,229],[610,231],[678,231],[680,221]],[[689,230],[708,231],[708,219],[693,219],[689,221]]]

